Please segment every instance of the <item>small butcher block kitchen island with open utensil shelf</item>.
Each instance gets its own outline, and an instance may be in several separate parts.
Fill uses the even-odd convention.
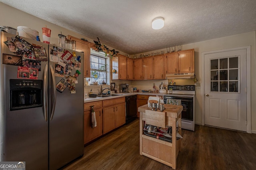
[[[176,169],[176,158],[181,150],[182,137],[179,134],[181,134],[183,107],[164,104],[164,108],[162,112],[158,109],[152,110],[148,105],[138,108],[140,112],[140,155]]]

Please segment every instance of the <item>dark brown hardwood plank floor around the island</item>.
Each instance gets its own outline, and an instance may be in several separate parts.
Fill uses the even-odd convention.
[[[176,170],[255,170],[256,134],[196,125],[182,129]],[[139,152],[139,120],[85,146],[63,170],[171,170]],[[152,146],[154,147],[154,146]]]

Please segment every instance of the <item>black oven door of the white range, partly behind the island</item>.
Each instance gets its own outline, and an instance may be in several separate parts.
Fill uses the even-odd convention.
[[[193,121],[193,97],[164,96],[164,103],[168,103],[171,99],[181,100],[183,106],[181,118]]]

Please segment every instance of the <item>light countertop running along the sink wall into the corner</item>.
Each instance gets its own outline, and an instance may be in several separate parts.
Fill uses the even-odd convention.
[[[134,93],[115,93],[118,94],[118,96],[110,96],[110,97],[87,97],[87,99],[84,99],[84,103],[89,103],[93,101],[102,101],[102,100],[107,100],[107,99],[115,99],[119,97],[126,97],[126,96],[132,96],[132,95],[152,95],[152,96],[163,96],[164,94],[167,93],[149,93],[149,92],[134,92]]]

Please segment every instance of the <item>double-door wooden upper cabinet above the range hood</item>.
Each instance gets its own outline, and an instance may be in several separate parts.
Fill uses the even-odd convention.
[[[194,73],[194,49],[166,54],[166,74]]]

